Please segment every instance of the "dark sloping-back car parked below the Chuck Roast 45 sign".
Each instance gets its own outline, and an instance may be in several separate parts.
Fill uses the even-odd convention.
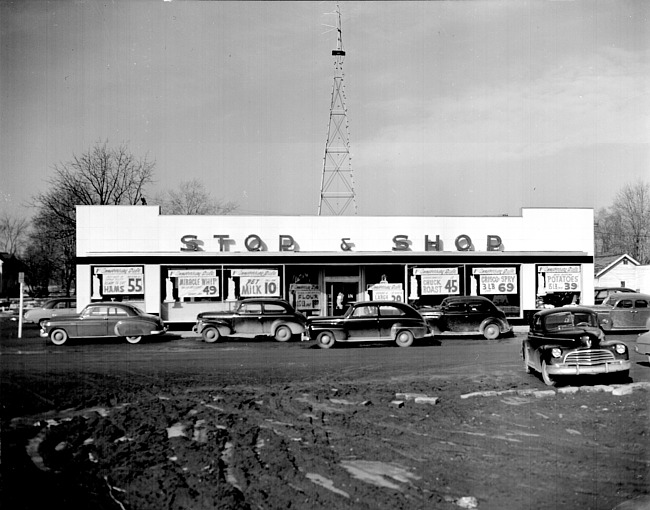
[[[446,297],[440,306],[420,308],[419,312],[439,334],[481,334],[494,340],[512,333],[506,314],[482,296]]]

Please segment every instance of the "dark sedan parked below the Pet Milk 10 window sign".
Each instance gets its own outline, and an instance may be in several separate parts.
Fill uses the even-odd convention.
[[[235,304],[232,311],[202,312],[193,331],[212,343],[222,336],[252,338],[266,335],[278,342],[302,335],[307,318],[287,301],[275,298],[248,298]]]

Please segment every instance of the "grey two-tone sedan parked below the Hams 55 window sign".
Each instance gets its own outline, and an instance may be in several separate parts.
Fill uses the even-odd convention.
[[[155,315],[127,303],[91,303],[80,314],[52,317],[41,326],[41,336],[54,345],[68,338],[121,337],[137,344],[142,337],[162,335],[168,326]]]

